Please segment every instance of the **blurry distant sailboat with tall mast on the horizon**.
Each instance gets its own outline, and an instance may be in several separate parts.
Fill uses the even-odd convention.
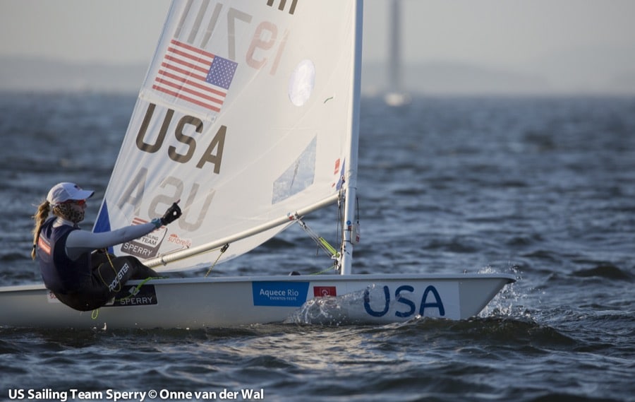
[[[389,34],[390,42],[388,49],[388,92],[384,100],[387,105],[399,107],[407,105],[412,98],[404,91],[403,77],[404,69],[401,56],[401,0],[390,1]]]

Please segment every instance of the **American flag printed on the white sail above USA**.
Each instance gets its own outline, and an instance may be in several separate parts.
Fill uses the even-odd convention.
[[[238,63],[171,40],[152,88],[220,112]]]

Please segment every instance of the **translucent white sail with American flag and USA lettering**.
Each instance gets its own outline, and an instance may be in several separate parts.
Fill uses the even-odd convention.
[[[355,182],[358,8],[175,0],[94,230],[157,218],[179,199],[183,215],[112,251],[175,271],[231,242],[229,259],[284,229],[287,214],[334,201],[342,177]]]

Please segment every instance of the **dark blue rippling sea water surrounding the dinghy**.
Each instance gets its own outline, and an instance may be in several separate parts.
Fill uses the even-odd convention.
[[[40,281],[30,215],[49,187],[102,196],[134,102],[0,94],[1,285]],[[354,271],[517,282],[465,321],[0,326],[0,400],[635,401],[634,98],[364,98],[360,157]],[[328,236],[334,218],[308,223]],[[315,254],[291,227],[214,273],[327,267]]]

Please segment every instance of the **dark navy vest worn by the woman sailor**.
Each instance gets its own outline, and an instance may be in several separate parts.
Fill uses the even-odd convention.
[[[37,242],[37,259],[44,285],[56,293],[77,292],[91,280],[90,253],[84,253],[75,261],[66,256],[66,238],[78,227],[61,225],[53,227],[56,218],[49,218],[40,230]]]

